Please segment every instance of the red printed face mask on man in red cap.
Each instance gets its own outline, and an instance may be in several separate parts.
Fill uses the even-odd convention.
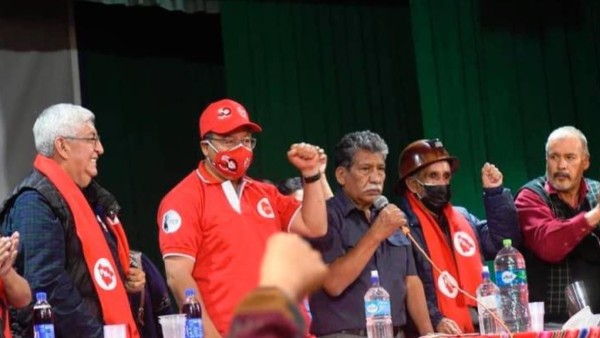
[[[218,151],[210,142],[207,143],[217,153],[211,163],[219,174],[230,180],[238,180],[246,174],[252,163],[251,149],[238,144],[229,150]]]

